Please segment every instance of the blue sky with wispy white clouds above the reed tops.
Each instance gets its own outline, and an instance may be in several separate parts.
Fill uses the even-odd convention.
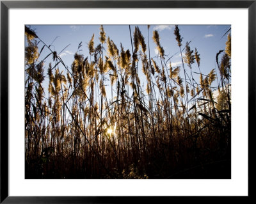
[[[100,43],[99,32],[100,25],[27,25],[36,32],[36,35],[44,41],[46,45],[51,45],[52,51],[56,51],[58,56],[64,61],[67,67],[71,67],[72,61],[74,61],[74,54],[77,52],[79,43],[82,42],[80,48],[81,54],[89,56],[88,42],[95,35],[94,45],[95,47]],[[145,37],[148,49],[148,35],[149,35],[149,47],[150,58],[157,57],[156,43],[153,42],[153,31],[157,30],[160,36],[161,46],[164,48],[164,53],[168,55],[166,59],[171,58],[172,67],[181,66],[181,57],[179,46],[175,40],[174,29],[175,25],[150,25],[149,32],[147,32],[147,25],[131,25],[131,33],[135,26],[140,28],[142,35]],[[120,49],[120,43],[124,47],[124,50],[129,49],[132,53],[131,37],[129,32],[129,25],[103,25],[106,36],[113,40],[118,49]],[[230,25],[179,25],[180,36],[182,39],[182,49],[184,49],[186,42],[190,42],[189,46],[191,50],[195,48],[200,54],[200,70],[202,74],[209,74],[212,68],[217,68],[216,53],[225,49],[225,42],[227,41],[227,34],[225,33],[230,29]],[[225,36],[223,36],[225,35]],[[133,37],[132,37],[133,38]],[[38,50],[42,48],[43,44],[38,44]],[[104,45],[107,49],[107,45]],[[64,50],[63,50],[64,49]],[[62,51],[62,52],[61,52]],[[148,53],[148,52],[147,52]],[[182,52],[185,53],[185,50]],[[41,53],[41,58],[44,58],[49,54],[49,50],[44,49]],[[89,57],[90,59],[90,57]],[[48,59],[47,59],[48,60]],[[45,60],[44,75],[47,75],[47,68],[50,61]],[[61,65],[60,65],[61,66]],[[190,70],[185,65],[188,74]],[[61,68],[60,68],[61,69]],[[192,65],[193,72],[199,72],[196,62]],[[180,68],[180,77],[182,77],[182,68]],[[139,72],[139,75],[143,75]],[[184,75],[183,75],[184,76]],[[193,75],[196,81],[198,81],[198,75]],[[47,84],[47,80],[45,80]],[[144,84],[146,86],[146,84]],[[216,86],[217,81],[212,83],[212,86]],[[45,85],[46,89],[48,85]]]

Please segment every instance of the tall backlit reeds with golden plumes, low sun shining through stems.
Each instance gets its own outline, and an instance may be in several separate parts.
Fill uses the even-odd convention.
[[[178,26],[180,67],[157,31],[130,29],[132,50],[99,31],[99,45],[92,35],[83,56],[80,43],[68,68],[25,27],[25,178],[231,178],[230,34],[204,73]]]

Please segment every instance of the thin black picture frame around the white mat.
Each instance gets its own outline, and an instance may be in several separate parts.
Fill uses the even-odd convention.
[[[135,3],[136,2],[136,3]],[[216,203],[223,197],[197,196],[22,196],[8,194],[8,10],[10,8],[248,8],[248,159],[252,160],[250,145],[255,136],[253,129],[255,118],[255,59],[256,59],[256,1],[1,1],[1,200],[0,203],[167,203],[172,201],[196,201],[198,199]],[[249,137],[250,136],[250,137]],[[251,168],[250,162],[248,169]],[[250,177],[251,171],[248,175]],[[252,180],[248,178],[248,196],[240,197],[244,201],[252,198]],[[237,200],[237,197],[225,197]],[[238,200],[240,200],[240,198]]]

